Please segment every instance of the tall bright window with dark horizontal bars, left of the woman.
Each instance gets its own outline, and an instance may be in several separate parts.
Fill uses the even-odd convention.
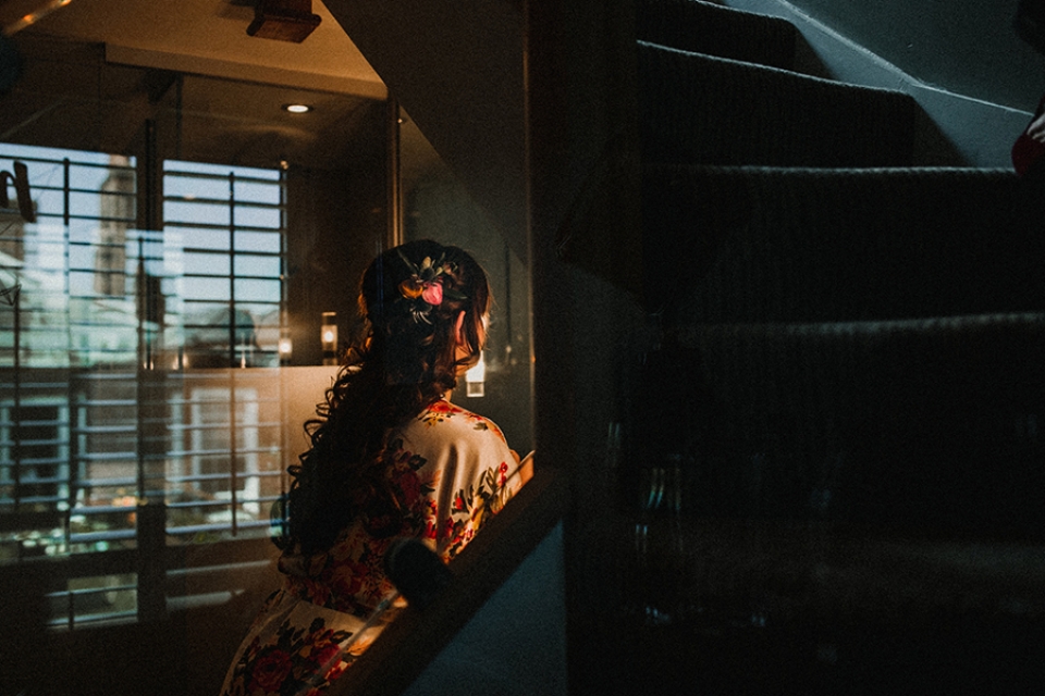
[[[263,538],[285,487],[284,175],[15,160],[35,221],[0,211],[0,564],[56,561],[54,625],[134,620],[170,600],[144,556]],[[137,226],[145,166],[162,231]]]

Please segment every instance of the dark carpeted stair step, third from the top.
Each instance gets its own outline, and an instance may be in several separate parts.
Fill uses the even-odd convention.
[[[650,165],[647,300],[683,324],[1042,311],[1024,198],[1003,170]]]

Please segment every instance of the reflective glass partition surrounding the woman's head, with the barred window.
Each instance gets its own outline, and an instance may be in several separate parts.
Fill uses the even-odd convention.
[[[25,74],[0,95],[0,580],[46,563],[34,592],[51,627],[218,607],[258,584],[336,370],[320,330],[359,336],[356,278],[394,204],[406,238],[488,271],[485,372],[454,399],[531,450],[525,261],[408,114],[115,65],[97,45],[20,48]]]

